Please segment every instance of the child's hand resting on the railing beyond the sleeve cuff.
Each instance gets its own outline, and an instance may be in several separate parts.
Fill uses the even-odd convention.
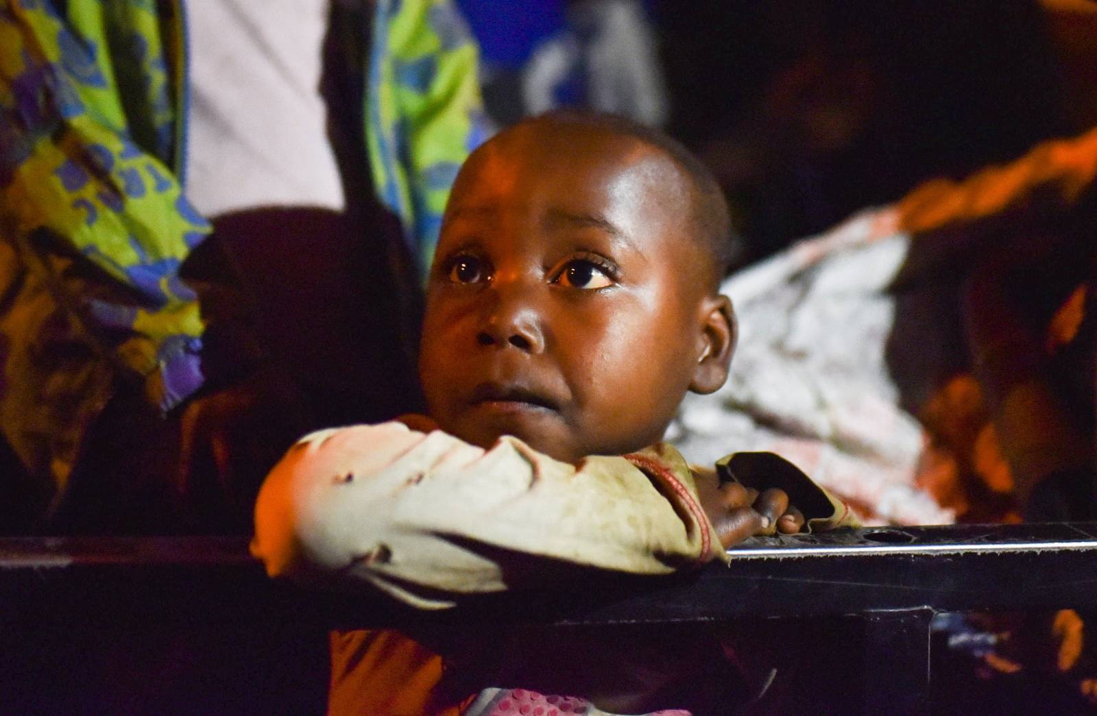
[[[701,507],[716,527],[720,544],[736,545],[759,534],[793,534],[804,526],[804,515],[789,504],[784,490],[768,489],[758,492],[738,482],[698,480]]]

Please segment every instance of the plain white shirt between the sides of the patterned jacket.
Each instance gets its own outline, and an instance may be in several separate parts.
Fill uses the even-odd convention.
[[[328,0],[188,3],[185,191],[207,216],[346,206],[319,93]]]

